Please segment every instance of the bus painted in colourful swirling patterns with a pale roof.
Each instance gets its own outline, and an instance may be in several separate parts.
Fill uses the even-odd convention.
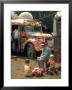
[[[42,42],[45,42],[46,38],[52,38],[51,34],[43,33],[41,21],[36,19],[11,20],[11,32],[16,26],[20,32],[19,52],[28,58],[35,58],[37,52],[42,51]]]

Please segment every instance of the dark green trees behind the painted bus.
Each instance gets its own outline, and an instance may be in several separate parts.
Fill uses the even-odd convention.
[[[16,14],[20,14],[23,11],[15,11]],[[27,11],[28,12],[28,11]],[[57,11],[29,11],[34,19],[42,21],[43,25],[48,27],[47,32],[53,31],[53,18]]]

